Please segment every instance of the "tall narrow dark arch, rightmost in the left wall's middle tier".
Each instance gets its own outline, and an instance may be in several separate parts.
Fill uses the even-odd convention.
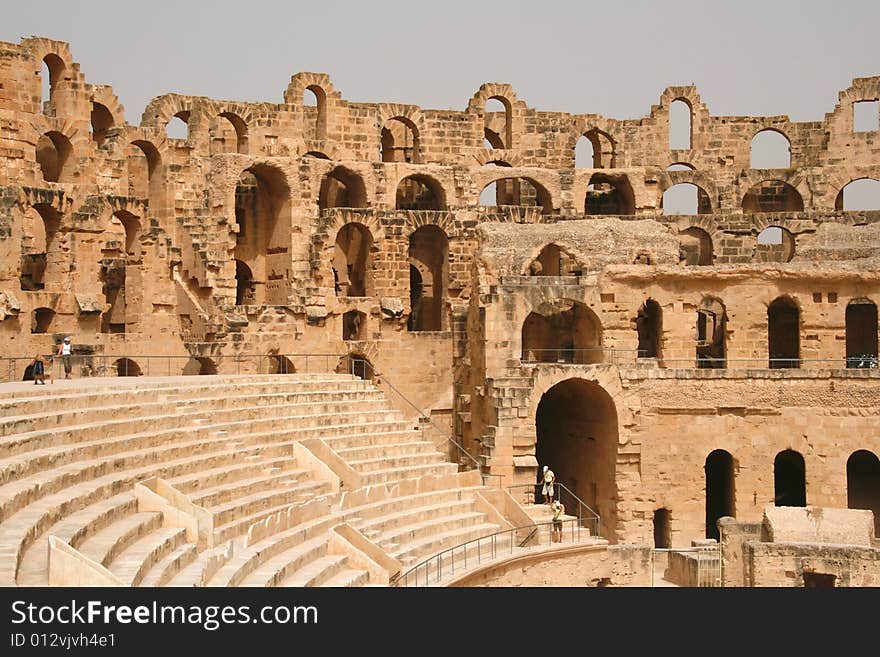
[[[449,239],[442,228],[422,226],[409,238],[410,331],[443,330]]]

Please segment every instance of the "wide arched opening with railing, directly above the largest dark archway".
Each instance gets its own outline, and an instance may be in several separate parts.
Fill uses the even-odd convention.
[[[576,301],[561,300],[542,307],[523,322],[523,362],[601,363],[601,345],[599,318]]]

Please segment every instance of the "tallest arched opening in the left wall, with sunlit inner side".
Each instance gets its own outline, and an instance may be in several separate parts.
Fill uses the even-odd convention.
[[[290,189],[266,165],[244,171],[235,188],[236,303],[282,305],[290,288]]]

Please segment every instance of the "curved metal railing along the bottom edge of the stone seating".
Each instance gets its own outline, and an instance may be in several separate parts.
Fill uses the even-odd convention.
[[[472,539],[447,548],[425,559],[409,570],[391,579],[391,586],[431,586],[453,577],[457,572],[480,566],[503,556],[528,552],[537,547],[553,544],[577,543],[589,535],[577,519],[541,522],[513,527],[494,534]]]

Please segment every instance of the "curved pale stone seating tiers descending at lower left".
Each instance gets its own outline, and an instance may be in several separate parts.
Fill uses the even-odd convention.
[[[0,386],[0,585],[49,584],[49,536],[129,586],[342,587],[377,583],[342,524],[402,569],[500,528],[478,508],[479,476],[368,381],[68,383]],[[326,463],[303,451],[316,440]],[[143,508],[135,487],[156,478],[211,519],[207,544],[176,512]]]

